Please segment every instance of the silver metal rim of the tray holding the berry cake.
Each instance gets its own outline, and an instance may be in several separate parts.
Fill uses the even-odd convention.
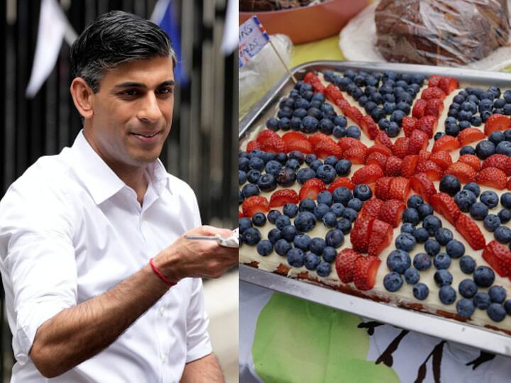
[[[500,88],[511,88],[511,74],[427,65],[325,60],[309,62],[295,67],[292,69],[292,74],[297,79],[303,79],[304,75],[309,71],[344,71],[348,69],[368,71],[390,70],[398,73],[422,73],[425,75],[440,74],[456,77],[461,83],[471,82],[485,87],[495,85]],[[277,101],[281,97],[287,96],[293,85],[290,77],[286,75],[263,96],[263,99],[240,122],[240,140],[251,129],[260,126],[266,118],[275,114]],[[247,265],[239,265],[239,272],[241,281],[271,289],[275,292],[297,296],[318,304],[333,307],[334,309],[388,323],[392,326],[470,345],[489,353],[511,356],[511,337],[503,333],[496,333],[480,326],[458,322],[429,313],[402,309],[391,304],[359,298],[358,296],[344,294],[310,282],[258,270]]]

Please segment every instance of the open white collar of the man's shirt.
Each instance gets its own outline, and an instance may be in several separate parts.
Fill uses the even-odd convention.
[[[77,165],[77,176],[82,179],[96,204],[103,203],[121,189],[128,187],[92,149],[83,130],[78,133],[71,150]],[[148,176],[149,182],[153,184],[158,194],[164,187],[171,191],[170,176],[159,159],[148,166]]]

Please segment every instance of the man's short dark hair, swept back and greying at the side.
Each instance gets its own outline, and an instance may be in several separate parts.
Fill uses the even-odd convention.
[[[72,78],[82,77],[94,93],[107,70],[134,60],[176,55],[170,38],[155,23],[123,11],[99,16],[71,47]]]

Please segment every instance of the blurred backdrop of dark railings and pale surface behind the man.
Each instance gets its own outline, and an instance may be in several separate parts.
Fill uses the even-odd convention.
[[[101,13],[121,9],[150,18],[156,0],[55,0],[79,34]],[[161,160],[194,189],[205,224],[234,228],[237,179],[238,66],[221,52],[229,0],[173,0],[180,22],[182,67],[189,82],[177,87],[174,121]],[[236,2],[237,3],[237,2]],[[42,155],[72,145],[82,128],[69,92],[69,49],[33,99],[26,97],[40,16],[38,0],[1,0],[0,197]],[[237,18],[237,9],[236,9]],[[236,270],[204,282],[214,350],[228,382],[238,379],[238,277]],[[9,382],[11,333],[1,299],[1,381]],[[221,299],[219,299],[221,297]]]

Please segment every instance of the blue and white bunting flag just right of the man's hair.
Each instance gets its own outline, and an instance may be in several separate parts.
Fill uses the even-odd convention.
[[[174,70],[175,78],[181,85],[188,84],[188,76],[185,67],[181,65],[180,24],[177,20],[172,0],[158,0],[150,20],[158,24],[158,26],[169,35],[172,48],[174,48],[174,52],[177,56],[177,65]]]

